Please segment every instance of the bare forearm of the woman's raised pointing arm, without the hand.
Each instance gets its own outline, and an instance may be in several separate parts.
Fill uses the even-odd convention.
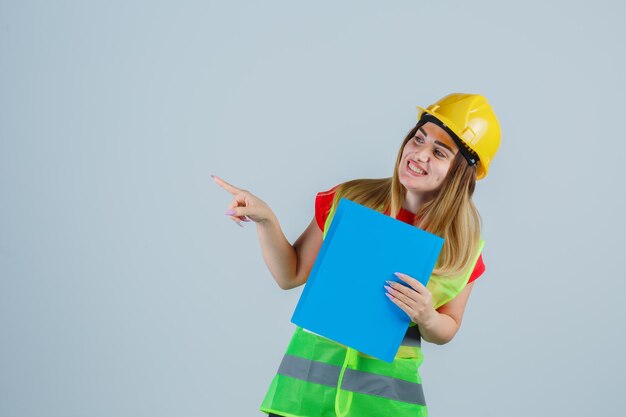
[[[288,290],[296,286],[296,251],[283,234],[278,219],[273,216],[257,223],[257,234],[265,264],[278,286]]]

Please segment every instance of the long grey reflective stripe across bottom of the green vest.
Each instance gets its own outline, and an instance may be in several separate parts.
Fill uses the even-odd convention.
[[[278,373],[314,384],[337,387],[341,366],[287,354],[283,357]],[[341,386],[337,388],[410,404],[426,404],[421,384],[354,369],[345,370]]]

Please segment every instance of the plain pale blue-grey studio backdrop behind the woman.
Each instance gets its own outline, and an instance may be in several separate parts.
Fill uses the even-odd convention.
[[[427,344],[432,416],[618,415],[621,1],[1,1],[0,416],[260,416],[282,291],[217,174],[293,242],[392,174],[416,105],[488,97],[485,274]],[[350,294],[345,294],[350,297]]]

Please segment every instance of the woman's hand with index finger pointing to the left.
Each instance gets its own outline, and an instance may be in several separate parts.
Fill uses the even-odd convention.
[[[229,215],[235,223],[241,226],[242,221],[252,220],[255,223],[263,223],[274,218],[272,209],[250,191],[237,188],[216,175],[211,175],[211,177],[233,196],[225,214]]]

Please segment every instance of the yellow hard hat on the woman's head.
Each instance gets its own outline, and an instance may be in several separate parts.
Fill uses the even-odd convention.
[[[444,129],[448,128],[448,133],[452,131],[457,136],[451,135],[470,164],[471,157],[462,145],[478,156],[476,179],[484,178],[500,146],[500,123],[487,99],[478,94],[454,93],[426,109],[417,108],[418,119],[430,114],[443,123]]]

